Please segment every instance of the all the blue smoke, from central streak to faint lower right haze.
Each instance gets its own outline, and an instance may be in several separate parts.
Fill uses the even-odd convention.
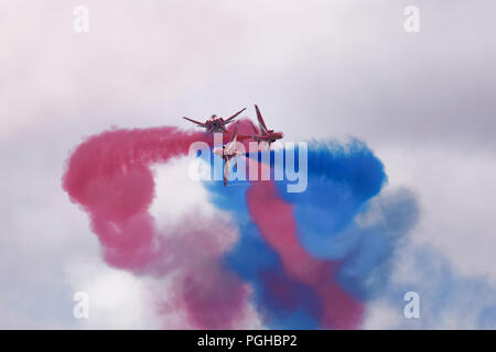
[[[306,190],[288,193],[285,179],[276,185],[282,199],[293,206],[300,245],[314,257],[341,263],[336,279],[346,293],[363,302],[387,299],[402,315],[405,293],[418,292],[422,319],[402,319],[398,328],[446,327],[446,317],[459,319],[453,322],[456,327],[496,328],[495,289],[483,278],[461,277],[439,253],[412,246],[408,234],[420,212],[416,196],[408,189],[382,190],[387,184],[384,165],[363,142],[313,141],[308,151]],[[263,160],[263,153],[258,160]],[[274,153],[270,160],[277,168]],[[298,146],[284,153],[294,153],[298,165]],[[239,240],[226,254],[225,265],[251,285],[268,327],[320,328],[322,307],[314,293],[288,277],[278,253],[249,217],[245,197],[249,182],[205,185],[212,202],[238,223]],[[417,275],[391,282],[398,255],[406,251],[413,252],[416,264],[410,272]],[[282,283],[289,297],[284,298],[296,302],[292,309],[267,289],[268,282]]]

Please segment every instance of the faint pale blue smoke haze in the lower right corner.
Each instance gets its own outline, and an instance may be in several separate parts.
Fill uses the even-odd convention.
[[[420,297],[420,318],[400,317],[397,329],[496,329],[496,289],[485,277],[460,275],[438,251],[411,245],[401,252],[410,275],[379,297],[402,316],[407,292]],[[403,264],[405,265],[405,264]]]

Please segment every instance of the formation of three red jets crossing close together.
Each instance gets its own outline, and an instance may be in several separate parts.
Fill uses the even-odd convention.
[[[226,129],[226,125],[234,122],[236,117],[245,110],[246,108],[236,112],[234,116],[231,116],[226,120],[216,114],[213,114],[205,122],[195,121],[186,117],[184,117],[183,119],[191,121],[201,128],[204,128],[208,133],[229,133]],[[250,136],[238,136],[238,122],[236,122],[236,127],[230,135],[229,142],[223,145],[222,147],[214,148],[214,154],[220,156],[224,161],[224,186],[227,185],[227,177],[229,176],[229,167],[231,160],[233,158],[235,160],[236,167],[238,164],[237,156],[240,155],[240,152],[237,150],[237,141],[239,139],[245,140],[247,138],[250,138],[254,141],[258,142],[258,145],[260,145],[260,143],[263,142],[268,145],[268,148],[270,151],[270,145],[284,136],[282,132],[274,132],[273,130],[267,128],[267,124],[263,121],[263,118],[260,113],[260,109],[258,109],[257,105],[255,105],[255,111],[257,112],[257,121],[260,131],[258,131],[255,124],[250,121],[255,134]]]

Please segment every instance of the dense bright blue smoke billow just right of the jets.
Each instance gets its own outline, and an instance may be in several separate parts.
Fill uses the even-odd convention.
[[[309,143],[308,170],[303,193],[287,193],[287,182],[278,183],[282,197],[294,205],[299,240],[316,257],[343,258],[358,240],[346,230],[387,182],[384,165],[358,140],[347,145],[313,141]]]

